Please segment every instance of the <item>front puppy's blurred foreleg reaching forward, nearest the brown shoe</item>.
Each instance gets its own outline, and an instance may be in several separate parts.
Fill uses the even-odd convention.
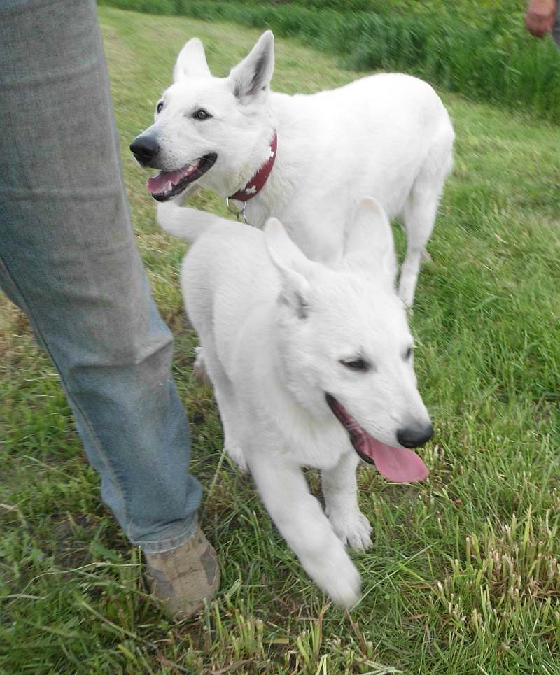
[[[270,517],[307,574],[337,604],[356,604],[360,575],[309,492],[300,467],[256,453],[249,467]]]

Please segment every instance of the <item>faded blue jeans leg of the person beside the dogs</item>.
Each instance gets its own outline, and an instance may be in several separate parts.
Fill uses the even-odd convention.
[[[93,0],[0,3],[0,286],[57,367],[127,537],[180,546],[202,489],[134,245]]]

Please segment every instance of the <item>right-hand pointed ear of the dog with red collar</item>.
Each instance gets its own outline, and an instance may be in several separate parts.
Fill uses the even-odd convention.
[[[243,103],[266,94],[274,72],[274,35],[266,31],[241,63],[230,71],[232,92]]]

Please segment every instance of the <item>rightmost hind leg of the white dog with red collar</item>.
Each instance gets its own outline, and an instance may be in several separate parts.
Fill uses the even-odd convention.
[[[430,259],[426,244],[432,234],[437,204],[453,163],[453,129],[446,127],[424,162],[403,209],[407,253],[400,271],[398,294],[407,307],[414,304],[414,291],[423,259]]]

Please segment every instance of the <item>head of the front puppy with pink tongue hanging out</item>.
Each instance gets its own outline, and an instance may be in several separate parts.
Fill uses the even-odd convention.
[[[393,481],[425,478],[407,448],[433,429],[414,375],[413,339],[395,292],[393,233],[371,197],[346,228],[336,269],[312,262],[271,218],[265,242],[281,277],[277,335],[286,385],[316,415],[335,415],[363,460]]]

